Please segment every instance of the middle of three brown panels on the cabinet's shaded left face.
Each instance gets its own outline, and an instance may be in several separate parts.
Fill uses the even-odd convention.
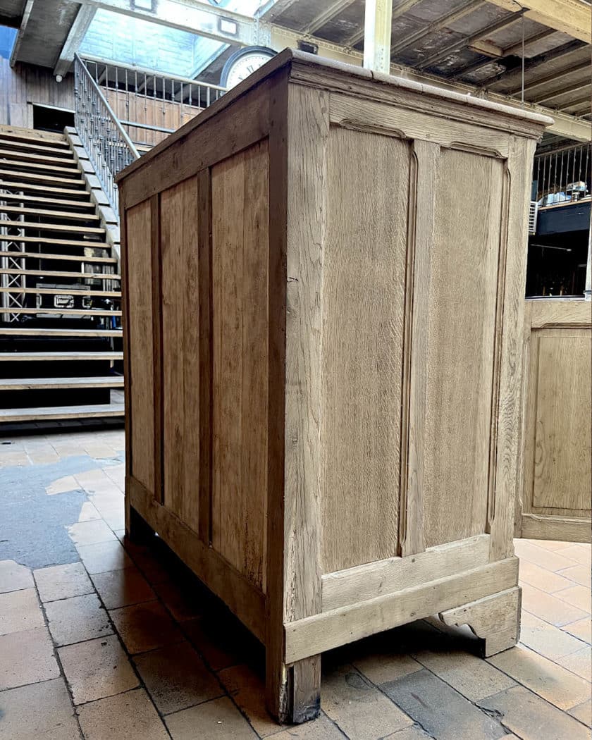
[[[161,193],[164,505],[199,528],[197,178]]]

